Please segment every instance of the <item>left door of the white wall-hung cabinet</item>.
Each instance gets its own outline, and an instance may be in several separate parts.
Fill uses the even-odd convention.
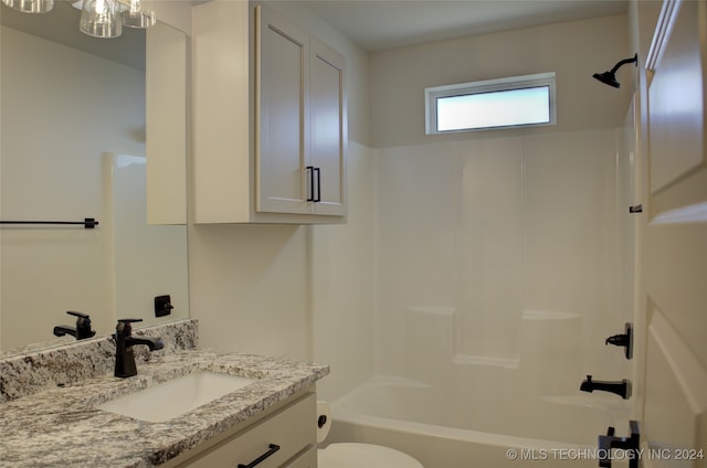
[[[270,9],[256,17],[256,211],[307,213],[309,36]]]

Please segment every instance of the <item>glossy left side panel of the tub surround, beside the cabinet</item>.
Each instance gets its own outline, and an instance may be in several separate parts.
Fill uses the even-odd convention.
[[[335,400],[374,374],[376,162],[363,145],[349,143],[348,223],[310,231],[314,358],[331,366],[317,384]]]

